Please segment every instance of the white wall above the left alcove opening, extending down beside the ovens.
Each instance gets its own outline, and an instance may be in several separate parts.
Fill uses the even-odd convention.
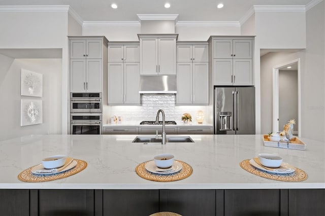
[[[28,10],[32,8],[27,8]],[[67,7],[45,6],[48,12],[0,12],[0,49],[37,49],[59,48],[62,49],[61,75],[62,83],[61,116],[55,119],[62,124],[63,133],[68,128],[68,10]],[[39,8],[36,8],[39,10]],[[6,20],[6,21],[4,21]],[[57,89],[55,89],[57,90]],[[2,99],[2,98],[0,98]],[[37,133],[37,131],[34,131]]]

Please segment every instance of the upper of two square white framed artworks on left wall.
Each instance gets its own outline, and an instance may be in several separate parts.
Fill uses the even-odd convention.
[[[20,95],[42,97],[43,96],[43,74],[39,74],[21,68]]]

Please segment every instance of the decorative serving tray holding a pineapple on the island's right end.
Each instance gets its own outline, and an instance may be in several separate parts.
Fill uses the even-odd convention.
[[[293,137],[290,139],[290,142],[284,141],[270,141],[268,138],[269,135],[263,135],[264,146],[267,147],[276,147],[282,149],[296,149],[296,150],[306,150],[306,144],[298,139],[297,137]]]

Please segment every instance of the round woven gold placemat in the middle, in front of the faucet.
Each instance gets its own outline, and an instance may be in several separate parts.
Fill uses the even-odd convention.
[[[174,182],[184,178],[187,178],[192,174],[192,167],[183,161],[177,161],[182,164],[183,168],[175,173],[168,174],[156,174],[146,170],[145,165],[149,161],[143,162],[136,167],[137,174],[147,180],[155,182]]]

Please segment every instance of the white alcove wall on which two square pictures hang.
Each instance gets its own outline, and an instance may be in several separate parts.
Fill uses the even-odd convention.
[[[61,133],[61,59],[13,59],[0,54],[0,140],[28,134]],[[43,74],[43,97],[20,95],[21,68]],[[43,100],[43,124],[20,126],[20,99]]]

